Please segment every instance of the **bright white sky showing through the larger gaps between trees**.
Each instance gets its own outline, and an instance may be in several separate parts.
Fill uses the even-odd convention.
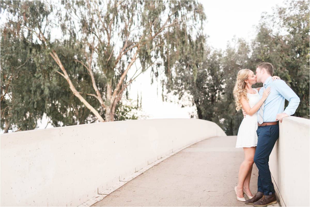
[[[250,41],[255,37],[254,26],[259,23],[262,12],[272,12],[272,7],[283,5],[283,1],[199,1],[203,4],[207,16],[204,32],[209,35],[208,45],[225,50],[232,38],[242,37]],[[158,89],[158,95],[157,95]],[[195,107],[181,108],[176,103],[162,102],[161,86],[154,81],[150,85],[150,70],[141,74],[130,87],[130,98],[136,100],[142,93],[143,114],[154,118],[189,118],[195,113]],[[195,113],[196,114],[196,113]],[[45,128],[47,120],[43,118],[40,129]],[[52,127],[50,124],[47,128]]]

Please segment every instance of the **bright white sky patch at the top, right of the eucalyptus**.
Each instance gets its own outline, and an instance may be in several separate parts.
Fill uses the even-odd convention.
[[[199,2],[207,15],[204,31],[210,36],[208,44],[223,50],[234,36],[253,39],[262,13],[271,14],[272,7],[284,5],[282,0]]]

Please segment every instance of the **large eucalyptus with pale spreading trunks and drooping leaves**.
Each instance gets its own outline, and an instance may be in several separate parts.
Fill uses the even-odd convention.
[[[33,35],[31,41],[39,43],[42,59],[50,65],[48,73],[63,78],[69,86],[64,90],[69,89],[99,121],[114,120],[124,91],[146,69],[152,68],[157,77],[162,66],[169,74],[180,55],[177,48],[187,44],[181,35],[191,34],[205,19],[203,8],[196,1],[63,1],[61,4],[2,1],[1,4],[10,14],[9,24],[15,29],[25,29]],[[36,61],[38,65],[42,62]],[[84,73],[80,72],[81,67]],[[79,70],[73,73],[69,68]],[[133,70],[131,77],[130,70]],[[82,74],[89,76],[92,91],[82,90],[76,83]],[[91,104],[90,99],[96,100],[97,105]]]

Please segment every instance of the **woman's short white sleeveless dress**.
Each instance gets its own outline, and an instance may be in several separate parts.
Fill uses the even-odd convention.
[[[256,94],[247,93],[251,108],[253,108],[260,100],[258,90],[254,90],[256,91]],[[257,127],[257,112],[252,116],[246,115],[239,126],[236,148],[256,147],[258,139],[256,133]]]

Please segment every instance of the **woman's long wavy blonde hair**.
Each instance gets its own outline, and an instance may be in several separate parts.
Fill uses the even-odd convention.
[[[241,97],[244,97],[247,101],[249,101],[248,96],[246,95],[246,82],[245,80],[248,79],[250,70],[249,69],[242,69],[239,70],[237,75],[237,80],[235,87],[233,89],[233,96],[235,97],[236,102],[236,110],[239,111],[242,108],[242,105],[240,103]]]

